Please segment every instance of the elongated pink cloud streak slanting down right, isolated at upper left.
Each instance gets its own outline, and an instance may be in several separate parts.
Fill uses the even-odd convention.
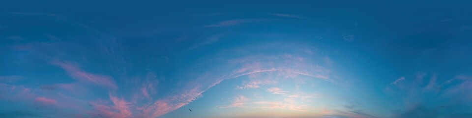
[[[110,89],[117,89],[118,88],[117,85],[115,84],[115,81],[113,81],[113,79],[109,76],[99,75],[99,74],[91,74],[91,73],[85,72],[85,71],[81,70],[80,68],[78,68],[77,66],[73,65],[70,62],[54,61],[52,63],[55,64],[55,65],[58,65],[59,67],[61,67],[65,71],[67,71],[67,73],[71,77],[73,77],[73,78],[75,78],[79,81],[101,85],[101,86],[104,86],[104,87],[108,87]]]

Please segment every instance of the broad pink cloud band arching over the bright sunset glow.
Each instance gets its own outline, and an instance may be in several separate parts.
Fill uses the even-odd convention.
[[[328,77],[328,75],[331,74],[331,70],[321,66],[325,64],[324,61],[322,61],[323,58],[313,58],[318,55],[315,56],[312,54],[306,54],[305,52],[301,52],[301,50],[298,48],[295,48],[294,50],[288,48],[280,48],[277,47],[277,45],[273,46],[274,47],[266,47],[265,50],[286,50],[295,54],[304,53],[304,55],[311,55],[311,57],[305,58],[300,55],[288,55],[282,53],[271,56],[241,56],[236,59],[224,60],[223,62],[225,64],[218,64],[215,67],[211,67],[214,69],[209,69],[210,71],[208,72],[204,72],[201,75],[192,77],[195,78],[193,81],[187,82],[185,84],[186,86],[183,86],[182,88],[178,89],[182,91],[175,91],[173,92],[174,94],[158,99],[153,104],[149,104],[144,114],[148,115],[148,117],[158,117],[164,115],[184,105],[187,105],[195,99],[201,97],[203,92],[215,85],[218,85],[222,81],[226,79],[238,78],[244,75],[252,75],[256,73],[265,72],[284,72],[296,75],[309,76],[313,77],[314,79],[322,79],[333,84],[338,81],[336,79]],[[296,47],[299,45],[293,46]],[[257,49],[246,50],[253,51]],[[209,59],[208,61],[213,60]],[[248,85],[247,88],[255,88],[255,86],[257,86],[257,84]],[[287,94],[286,91],[282,91],[278,88],[271,88],[268,90],[276,94]],[[292,97],[300,96],[292,95]],[[293,107],[293,109],[296,108],[298,107]]]

